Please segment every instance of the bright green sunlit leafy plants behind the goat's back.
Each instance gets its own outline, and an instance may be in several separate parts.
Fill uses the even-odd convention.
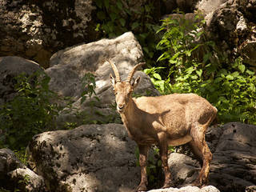
[[[160,67],[144,71],[162,94],[196,93],[218,108],[222,122],[256,124],[254,72],[241,58],[230,62],[214,42],[202,41],[203,23],[199,19],[191,24],[185,16],[163,20],[159,32],[164,34],[157,46],[162,51]]]

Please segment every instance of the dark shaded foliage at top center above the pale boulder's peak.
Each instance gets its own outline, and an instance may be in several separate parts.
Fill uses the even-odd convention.
[[[158,37],[157,22],[152,17],[154,13],[154,1],[142,2],[138,9],[130,8],[130,1],[126,0],[96,0],[98,24],[95,28],[102,37],[113,38],[133,31],[142,46],[142,50],[148,62],[156,54],[155,42]]]

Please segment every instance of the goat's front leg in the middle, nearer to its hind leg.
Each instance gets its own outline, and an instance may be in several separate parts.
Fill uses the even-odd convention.
[[[162,168],[165,172],[165,182],[162,188],[169,188],[170,186],[172,186],[172,181],[171,181],[171,175],[170,175],[170,170],[168,166],[168,142],[166,138],[166,133],[165,132],[159,133],[158,139],[159,139],[160,156],[162,159]]]

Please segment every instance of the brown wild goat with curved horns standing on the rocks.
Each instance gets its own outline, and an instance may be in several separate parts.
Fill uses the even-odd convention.
[[[110,62],[110,61],[109,61]],[[132,98],[131,94],[140,77],[132,81],[135,70],[144,63],[138,63],[122,82],[117,66],[110,62],[115,78],[110,74],[114,87],[118,113],[130,138],[138,144],[141,182],[137,191],[146,190],[146,158],[150,146],[156,143],[160,148],[165,182],[162,188],[172,186],[167,163],[168,145],[179,146],[189,143],[192,151],[202,163],[202,170],[194,182],[203,186],[208,180],[212,154],[206,144],[206,129],[214,120],[217,109],[197,94],[168,94],[158,97]]]

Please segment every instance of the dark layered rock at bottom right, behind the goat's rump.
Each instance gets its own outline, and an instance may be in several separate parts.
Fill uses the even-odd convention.
[[[256,126],[230,122],[223,130],[210,166],[210,184],[223,192],[245,191],[256,183]]]

